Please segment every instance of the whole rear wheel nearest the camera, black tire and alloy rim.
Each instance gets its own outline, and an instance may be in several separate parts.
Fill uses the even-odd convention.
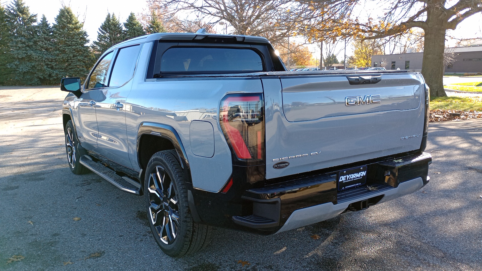
[[[174,150],[154,153],[147,164],[144,198],[157,244],[168,256],[183,257],[207,246],[212,227],[192,220],[184,173],[176,157]]]

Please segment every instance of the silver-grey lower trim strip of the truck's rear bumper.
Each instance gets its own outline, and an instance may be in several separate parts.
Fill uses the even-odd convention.
[[[373,191],[366,194],[363,197],[359,197],[350,201],[343,203],[333,204],[333,203],[323,203],[303,209],[298,209],[286,220],[284,225],[277,232],[292,230],[299,227],[303,227],[309,224],[317,223],[323,220],[327,220],[336,217],[343,213],[348,205],[351,203],[360,202],[363,200],[368,200],[370,198],[383,196],[378,203],[383,203],[389,200],[402,197],[404,195],[411,194],[416,190],[419,190],[424,186],[424,181],[421,177],[415,178],[413,180],[402,182],[397,188],[388,188],[380,191]],[[378,204],[375,203],[375,204]]]

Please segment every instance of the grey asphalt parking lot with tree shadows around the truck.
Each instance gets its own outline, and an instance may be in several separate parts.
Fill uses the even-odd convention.
[[[215,229],[205,250],[174,259],[152,238],[141,197],[70,172],[65,94],[0,88],[2,271],[482,270],[480,119],[430,123],[422,190],[272,236]]]

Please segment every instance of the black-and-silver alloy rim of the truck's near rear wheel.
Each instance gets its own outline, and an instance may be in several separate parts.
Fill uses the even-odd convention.
[[[152,225],[164,244],[173,244],[179,229],[179,203],[172,179],[158,165],[149,175],[148,212]]]

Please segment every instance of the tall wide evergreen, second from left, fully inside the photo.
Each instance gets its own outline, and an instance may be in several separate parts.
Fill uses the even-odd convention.
[[[30,14],[23,0],[13,0],[6,9],[7,26],[11,33],[9,63],[11,83],[16,85],[39,85],[35,65],[34,41],[37,37],[37,14]]]

